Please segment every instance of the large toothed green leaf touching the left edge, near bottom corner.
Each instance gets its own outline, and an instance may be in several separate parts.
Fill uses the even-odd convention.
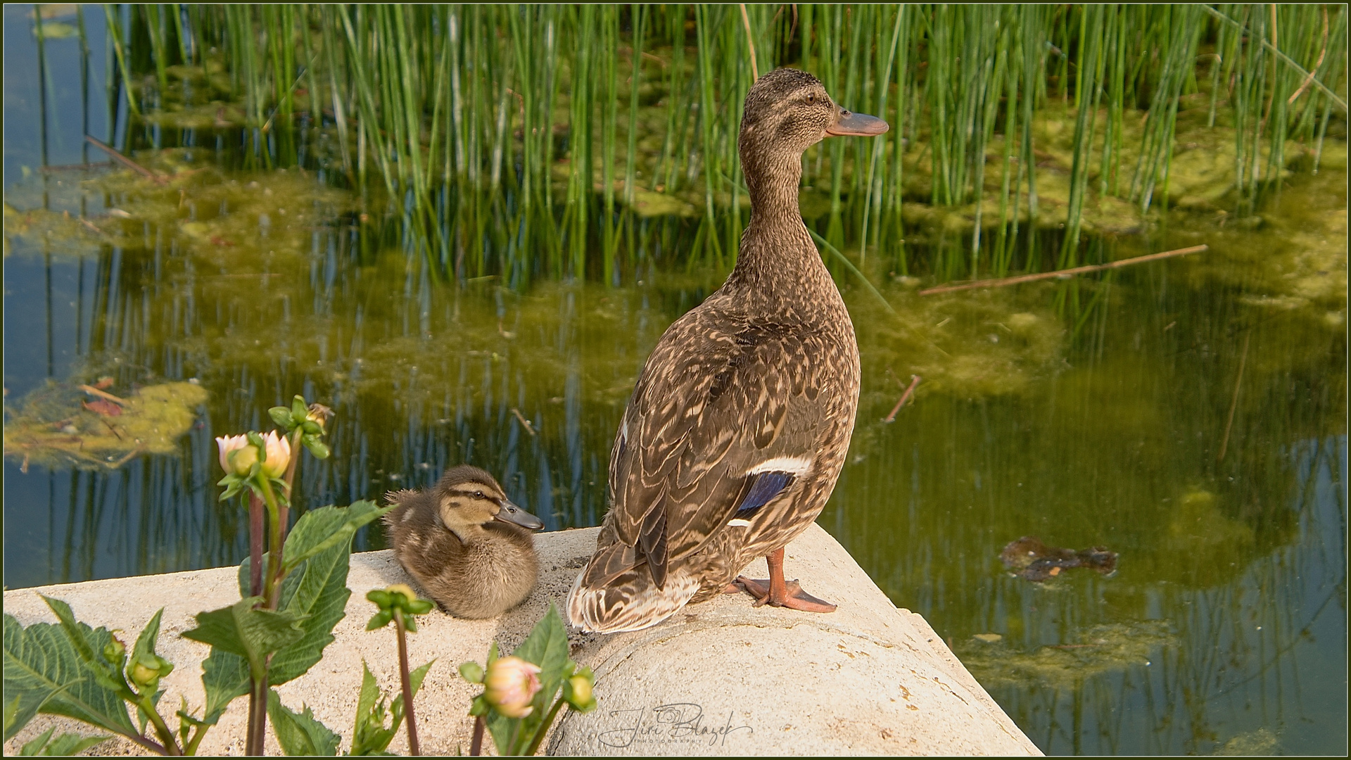
[[[74,627],[91,650],[101,652],[112,641],[107,629],[91,630],[84,623]],[[4,615],[4,694],[9,699],[5,713],[14,715],[7,717],[5,740],[36,713],[65,715],[113,733],[136,733],[122,696],[99,683],[61,626],[23,627],[12,615]]]

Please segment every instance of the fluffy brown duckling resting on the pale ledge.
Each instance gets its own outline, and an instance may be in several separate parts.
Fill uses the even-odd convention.
[[[447,469],[427,491],[385,496],[394,559],[443,610],[492,618],[530,596],[539,560],[530,531],[539,518],[507,499],[492,475],[470,465]]]

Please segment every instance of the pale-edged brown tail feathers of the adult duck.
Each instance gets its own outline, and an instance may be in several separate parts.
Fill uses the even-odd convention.
[[[596,633],[620,633],[654,626],[684,607],[698,591],[698,580],[670,573],[662,588],[653,581],[647,563],[623,565],[624,549],[612,544],[588,563],[567,594],[567,619]]]

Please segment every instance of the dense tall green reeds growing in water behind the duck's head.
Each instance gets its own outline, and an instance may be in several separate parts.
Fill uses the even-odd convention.
[[[407,222],[434,272],[513,287],[616,283],[658,253],[730,266],[746,223],[742,100],[781,65],[892,122],[881,139],[809,150],[802,184],[825,203],[815,231],[898,273],[1082,262],[1101,199],[1169,206],[1196,97],[1235,146],[1239,212],[1279,187],[1286,141],[1315,146],[1316,170],[1329,123],[1346,122],[1339,5],[105,8],[132,119],[182,97],[172,66],[223,68],[247,165],[327,161],[365,208]],[[1063,233],[1038,176],[1059,118],[1073,123],[1056,149]],[[331,135],[331,156],[300,157],[307,128]],[[644,214],[654,193],[685,211]],[[908,230],[912,203],[957,211],[965,231],[907,249],[932,239]]]

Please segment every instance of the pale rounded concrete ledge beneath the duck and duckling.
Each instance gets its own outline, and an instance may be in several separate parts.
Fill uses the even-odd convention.
[[[500,618],[432,613],[419,621],[409,657],[413,664],[436,660],[417,696],[423,753],[467,752],[473,723],[466,713],[481,687],[461,680],[457,667],[482,663],[493,638],[509,652],[550,599],[562,607],[596,531],[536,537],[539,587]],[[1040,755],[928,623],[894,609],[824,530],[812,526],[793,542],[785,569],[840,609],[830,615],[754,609],[750,596],[728,595],[643,632],[574,632],[573,657],[596,669],[600,707],[561,721],[547,744],[550,755]],[[765,577],[763,560],[747,575]],[[397,691],[393,634],[363,629],[374,613],[366,591],[400,581],[408,577],[390,552],[353,556],[347,617],[323,661],[278,688],[288,706],[299,710],[304,702],[324,725],[350,737],[362,659],[388,694]],[[55,622],[38,594],[66,600],[95,627],[131,636],[163,606],[159,653],[177,667],[163,682],[161,705],[177,705],[184,695],[199,710],[207,646],[177,634],[193,627],[193,614],[238,599],[235,568],[218,568],[7,591],[4,611],[24,625]],[[246,705],[242,698],[231,705],[207,734],[201,755],[243,753]],[[5,744],[5,753],[16,755],[53,723],[92,733],[74,721],[39,715]],[[97,751],[142,753],[123,740]],[[407,752],[403,732],[390,751]],[[267,752],[280,753],[270,733]]]

